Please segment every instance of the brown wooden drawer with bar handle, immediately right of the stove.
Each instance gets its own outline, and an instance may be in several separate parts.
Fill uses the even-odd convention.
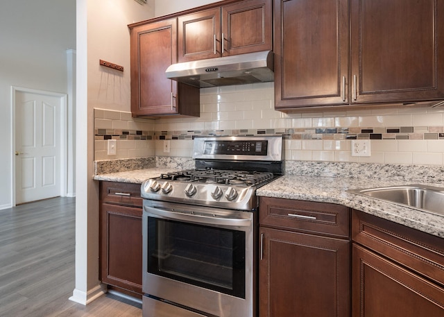
[[[350,209],[330,203],[261,197],[259,223],[275,228],[350,236]]]

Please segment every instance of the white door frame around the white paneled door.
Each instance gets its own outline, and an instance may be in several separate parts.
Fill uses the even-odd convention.
[[[15,180],[15,99],[16,95],[19,92],[28,92],[31,94],[42,94],[46,96],[53,96],[56,98],[59,98],[60,100],[60,130],[57,131],[60,135],[60,196],[65,197],[67,196],[67,108],[68,108],[68,95],[67,94],[61,94],[58,92],[48,92],[46,90],[40,90],[40,89],[30,89],[30,88],[24,88],[24,87],[17,87],[17,86],[11,86],[11,162],[12,162],[12,173],[11,173],[11,201],[12,206],[16,205],[16,180]]]

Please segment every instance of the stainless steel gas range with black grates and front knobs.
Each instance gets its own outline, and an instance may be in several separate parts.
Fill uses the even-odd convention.
[[[196,137],[193,157],[142,184],[143,316],[255,317],[255,191],[282,175],[282,137]]]

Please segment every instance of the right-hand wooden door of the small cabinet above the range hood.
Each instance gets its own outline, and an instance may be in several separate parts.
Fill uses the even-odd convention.
[[[273,49],[272,0],[246,0],[222,7],[222,55]]]

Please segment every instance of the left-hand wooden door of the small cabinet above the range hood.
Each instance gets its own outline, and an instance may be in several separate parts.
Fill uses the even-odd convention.
[[[178,60],[221,57],[221,8],[178,17]]]

